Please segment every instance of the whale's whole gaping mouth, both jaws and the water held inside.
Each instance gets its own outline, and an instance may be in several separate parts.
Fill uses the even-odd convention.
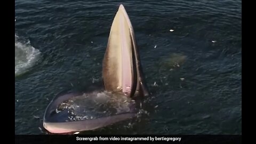
[[[123,5],[110,29],[102,77],[103,91],[57,95],[46,108],[44,128],[51,133],[95,130],[137,115],[132,99],[148,95],[148,91],[134,31]]]

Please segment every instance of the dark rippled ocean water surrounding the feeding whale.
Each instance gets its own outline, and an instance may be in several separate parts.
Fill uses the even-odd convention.
[[[241,3],[15,0],[15,134],[45,134],[55,94],[100,81],[119,4],[151,95],[139,119],[84,133],[241,134]]]

